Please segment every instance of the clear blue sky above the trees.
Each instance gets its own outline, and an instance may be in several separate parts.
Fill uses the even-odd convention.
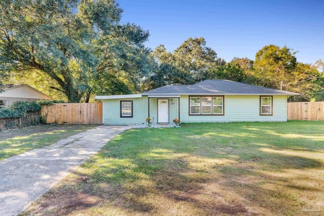
[[[150,32],[146,46],[173,52],[189,37],[204,37],[218,57],[254,60],[266,45],[287,46],[297,61],[324,60],[324,1],[116,0],[122,23]]]

